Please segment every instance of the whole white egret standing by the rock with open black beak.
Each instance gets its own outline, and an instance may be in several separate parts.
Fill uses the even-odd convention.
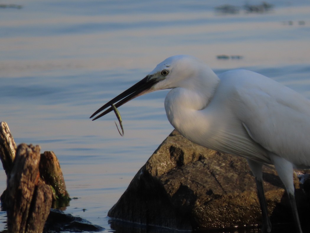
[[[256,180],[263,232],[271,231],[262,165],[273,164],[289,195],[296,229],[302,232],[294,197],[293,169],[310,167],[310,100],[258,73],[232,70],[217,76],[191,56],[167,58],[144,79],[99,108],[161,89],[168,120],[201,146],[245,157]],[[112,107],[95,117],[104,116]],[[223,174],[224,176],[225,174]]]

